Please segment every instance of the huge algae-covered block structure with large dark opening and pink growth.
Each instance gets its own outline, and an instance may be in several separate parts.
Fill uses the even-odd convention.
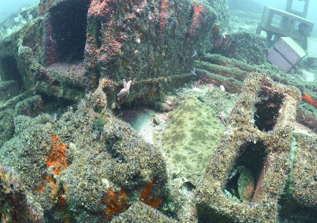
[[[153,104],[187,82],[210,27],[230,20],[225,2],[204,0],[41,0],[23,16],[32,19],[0,41],[2,81],[77,101],[106,78],[118,105]],[[123,79],[131,92],[118,101]]]

